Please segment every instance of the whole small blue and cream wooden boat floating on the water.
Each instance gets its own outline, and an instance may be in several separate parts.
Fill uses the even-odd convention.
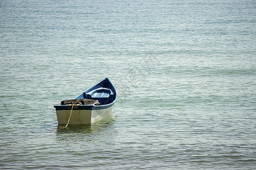
[[[92,124],[112,114],[115,101],[117,91],[105,78],[74,99],[61,101],[54,107],[59,125]]]

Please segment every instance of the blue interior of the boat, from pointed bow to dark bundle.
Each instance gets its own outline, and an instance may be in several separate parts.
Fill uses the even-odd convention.
[[[89,88],[75,99],[98,100],[101,105],[105,105],[112,103],[115,100],[116,95],[113,84],[108,79],[104,79],[102,82]]]

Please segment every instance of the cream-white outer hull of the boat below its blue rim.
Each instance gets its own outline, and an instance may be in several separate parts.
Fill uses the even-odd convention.
[[[74,109],[69,121],[70,125],[93,124],[113,113],[114,105],[106,109],[76,110]],[[59,124],[67,124],[71,110],[56,111]]]

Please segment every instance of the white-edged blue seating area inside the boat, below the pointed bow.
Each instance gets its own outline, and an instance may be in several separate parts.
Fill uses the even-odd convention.
[[[84,93],[85,99],[98,100],[101,105],[111,103],[114,99],[114,94],[109,88],[100,87],[96,90]]]

